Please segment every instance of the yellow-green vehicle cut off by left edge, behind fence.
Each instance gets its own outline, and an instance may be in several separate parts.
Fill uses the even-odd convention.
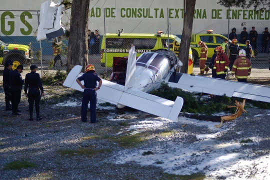
[[[30,47],[22,44],[9,44],[0,40],[0,63],[4,65],[6,60],[12,60],[12,69],[20,64],[28,64],[30,62]]]

